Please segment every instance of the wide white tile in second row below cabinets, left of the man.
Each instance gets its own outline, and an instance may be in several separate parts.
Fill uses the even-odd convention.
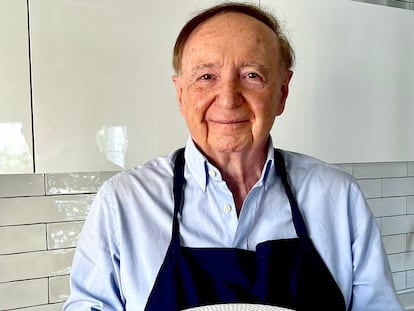
[[[0,199],[0,226],[85,219],[94,195]]]

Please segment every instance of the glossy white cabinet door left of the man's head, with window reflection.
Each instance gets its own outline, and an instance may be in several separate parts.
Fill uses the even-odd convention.
[[[211,3],[31,1],[37,171],[132,167],[183,146],[172,49]]]

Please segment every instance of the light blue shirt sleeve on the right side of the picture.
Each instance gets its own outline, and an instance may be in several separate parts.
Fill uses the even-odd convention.
[[[349,211],[353,235],[352,310],[403,311],[377,223],[356,184],[351,189]]]

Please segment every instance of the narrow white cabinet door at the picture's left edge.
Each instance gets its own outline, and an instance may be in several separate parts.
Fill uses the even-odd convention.
[[[0,0],[0,174],[33,173],[26,0]]]

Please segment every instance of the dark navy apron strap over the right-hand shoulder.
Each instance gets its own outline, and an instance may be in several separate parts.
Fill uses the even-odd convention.
[[[275,168],[279,172],[282,178],[282,183],[285,188],[286,195],[289,199],[290,209],[292,210],[292,220],[295,225],[296,234],[299,238],[308,237],[308,230],[306,229],[305,221],[303,220],[302,214],[299,210],[298,202],[293,195],[292,188],[289,185],[287,176],[285,160],[283,159],[282,153],[279,149],[275,149]]]

